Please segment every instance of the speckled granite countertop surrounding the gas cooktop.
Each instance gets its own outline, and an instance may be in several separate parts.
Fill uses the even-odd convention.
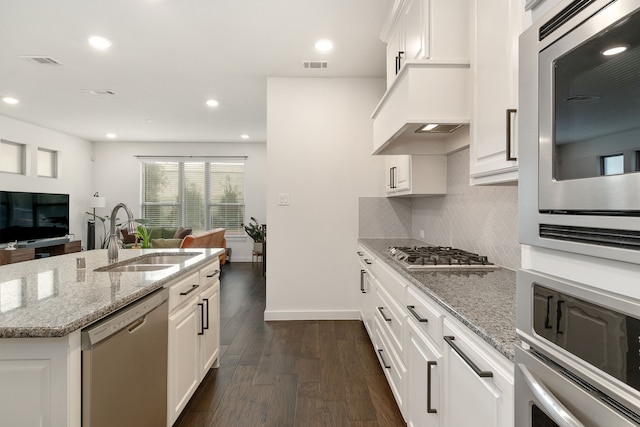
[[[413,239],[360,239],[359,243],[390,265],[501,354],[513,361],[516,338],[516,273],[408,270],[391,257],[389,246],[425,246]]]

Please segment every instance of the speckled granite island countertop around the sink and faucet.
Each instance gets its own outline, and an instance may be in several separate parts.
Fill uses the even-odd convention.
[[[119,262],[148,253],[195,253],[167,269],[100,272],[107,250],[0,266],[0,338],[62,337],[205,265],[223,249],[123,249]],[[84,257],[86,268],[76,268]]]

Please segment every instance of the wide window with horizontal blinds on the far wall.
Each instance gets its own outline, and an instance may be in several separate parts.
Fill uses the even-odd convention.
[[[142,216],[152,226],[244,236],[244,163],[144,160],[142,181]]]

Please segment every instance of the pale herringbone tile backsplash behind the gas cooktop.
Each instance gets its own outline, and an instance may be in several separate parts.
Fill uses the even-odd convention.
[[[449,155],[447,161],[446,196],[361,198],[360,237],[411,237],[519,268],[518,187],[470,186],[468,149]]]

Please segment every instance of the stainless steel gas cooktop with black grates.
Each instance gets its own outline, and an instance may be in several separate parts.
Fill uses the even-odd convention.
[[[389,254],[408,269],[496,269],[486,256],[448,246],[392,246]]]

